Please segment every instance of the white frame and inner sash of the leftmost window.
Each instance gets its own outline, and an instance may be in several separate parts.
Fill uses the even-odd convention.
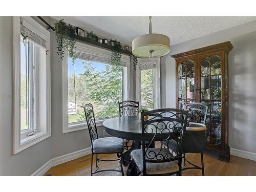
[[[13,17],[13,154],[17,154],[51,136],[50,32],[33,18],[22,18],[27,28],[46,40],[46,49],[49,52],[46,55],[45,74],[42,73],[44,76],[39,75],[39,67],[35,67],[34,69],[35,105],[38,106],[34,110],[35,119],[38,118],[38,120],[35,120],[36,131],[33,133],[31,127],[28,130],[22,131],[20,127],[20,17]],[[45,81],[40,82],[39,78],[44,78]],[[39,84],[41,83],[44,84],[45,89],[39,88]],[[45,94],[39,98],[38,92],[42,90],[45,90]],[[45,107],[39,109],[40,103],[41,105],[45,105]],[[39,121],[41,121],[40,124]],[[32,133],[32,135],[27,136],[29,133]]]

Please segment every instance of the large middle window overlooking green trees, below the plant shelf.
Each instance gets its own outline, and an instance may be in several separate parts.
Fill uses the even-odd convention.
[[[120,66],[111,65],[110,58],[108,50],[77,42],[75,63],[63,61],[63,133],[86,128],[85,103],[93,104],[97,125],[119,115],[118,101],[127,99],[129,57],[122,55]]]

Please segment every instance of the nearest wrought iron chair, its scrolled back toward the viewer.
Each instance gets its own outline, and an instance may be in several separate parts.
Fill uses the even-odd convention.
[[[134,150],[131,156],[133,165],[139,168],[143,176],[181,176],[180,149],[170,150],[162,142],[173,139],[178,146],[182,144],[187,115],[187,111],[177,109],[158,109],[141,114],[142,149]],[[148,116],[147,120],[145,116]],[[177,133],[180,134],[180,142],[177,141]],[[150,141],[150,145],[146,145],[146,141]],[[151,143],[155,141],[161,143],[160,147],[151,148]]]

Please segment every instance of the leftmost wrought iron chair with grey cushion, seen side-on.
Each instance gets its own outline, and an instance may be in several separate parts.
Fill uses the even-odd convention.
[[[91,139],[91,176],[100,172],[114,171],[120,172],[122,176],[123,173],[123,139],[117,137],[103,137],[98,138],[98,131],[94,117],[93,105],[91,103],[81,106],[84,109],[84,114],[86,116],[86,121],[88,125],[88,130]],[[96,155],[96,169],[93,170],[93,156]],[[98,154],[116,154],[118,159],[99,159]],[[119,169],[102,169],[98,170],[100,161],[119,161]]]

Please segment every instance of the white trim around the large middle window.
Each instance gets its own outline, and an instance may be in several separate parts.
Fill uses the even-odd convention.
[[[76,42],[76,51],[81,53],[89,53],[99,55],[106,58],[111,58],[111,51],[102,48],[94,47]],[[68,55],[66,50],[65,55]],[[123,100],[128,100],[130,93],[130,57],[122,54],[122,61],[127,63],[127,67],[123,67],[122,80],[123,80]],[[118,103],[117,103],[118,104]],[[86,122],[78,122],[69,124],[68,117],[68,57],[64,57],[62,61],[62,133],[70,133],[88,129]],[[107,118],[106,118],[107,119]],[[96,120],[96,126],[102,126],[105,119]]]

